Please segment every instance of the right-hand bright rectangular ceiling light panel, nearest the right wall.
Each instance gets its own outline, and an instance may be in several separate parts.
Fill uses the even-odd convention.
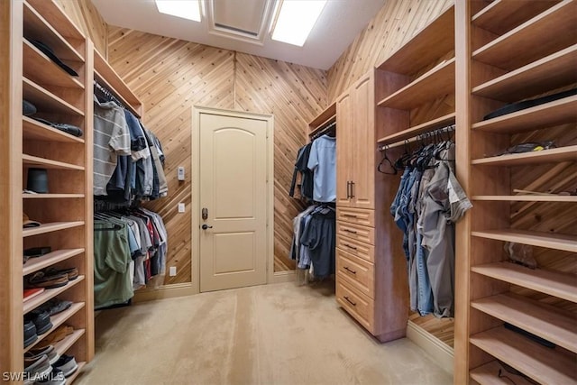
[[[272,40],[302,47],[325,4],[326,0],[281,0]]]

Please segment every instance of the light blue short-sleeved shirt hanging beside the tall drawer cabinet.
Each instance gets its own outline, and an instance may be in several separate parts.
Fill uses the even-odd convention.
[[[323,135],[310,149],[307,167],[315,171],[313,199],[316,202],[336,200],[336,138]]]

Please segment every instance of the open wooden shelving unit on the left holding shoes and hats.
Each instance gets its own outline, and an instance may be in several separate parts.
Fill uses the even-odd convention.
[[[0,267],[0,371],[23,371],[23,354],[61,325],[73,332],[54,344],[74,355],[78,372],[94,355],[92,244],[92,44],[53,1],[2,2],[2,220],[8,245]],[[41,41],[78,73],[71,76],[38,47]],[[23,99],[34,105],[23,115]],[[42,121],[37,118],[43,119]],[[53,123],[72,124],[83,135],[60,131]],[[41,169],[48,192],[30,194],[27,179]],[[23,215],[40,225],[23,227]],[[23,261],[23,251],[50,247],[41,257]],[[41,270],[77,268],[78,278],[23,300],[23,286]],[[23,283],[24,282],[24,283]],[[52,298],[72,305],[50,316],[52,327],[26,347],[23,316]],[[20,382],[22,377],[13,379]]]

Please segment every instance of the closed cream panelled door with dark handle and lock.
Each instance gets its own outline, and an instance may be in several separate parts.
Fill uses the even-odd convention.
[[[267,126],[200,114],[200,291],[266,283]]]

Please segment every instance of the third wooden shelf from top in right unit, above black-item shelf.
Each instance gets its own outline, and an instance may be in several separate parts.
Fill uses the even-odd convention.
[[[517,102],[577,81],[577,44],[472,88],[472,94]]]

